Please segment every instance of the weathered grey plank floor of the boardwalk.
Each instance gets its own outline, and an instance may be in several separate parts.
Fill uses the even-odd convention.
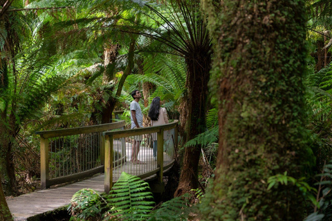
[[[144,151],[141,148],[138,159],[145,162],[145,164],[125,162],[113,171],[114,180],[118,179],[121,171],[132,171],[135,175],[140,175],[156,169],[157,165],[150,151],[152,151],[151,148],[145,148]],[[164,153],[164,159],[164,165],[172,163],[172,159],[166,153]],[[147,177],[144,180],[153,180],[154,178],[156,178],[156,175]],[[39,220],[39,215],[68,206],[71,203],[73,194],[84,188],[94,189],[102,193],[104,191],[104,174],[95,175],[72,184],[20,195],[19,197],[8,199],[7,203],[14,220],[27,220],[28,218],[30,220],[34,216],[36,219],[33,220]]]

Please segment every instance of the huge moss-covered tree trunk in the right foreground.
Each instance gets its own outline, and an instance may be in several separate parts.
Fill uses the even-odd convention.
[[[302,176],[306,73],[303,0],[218,1],[208,12],[219,97],[219,155],[205,220],[303,220],[296,186],[268,177]]]

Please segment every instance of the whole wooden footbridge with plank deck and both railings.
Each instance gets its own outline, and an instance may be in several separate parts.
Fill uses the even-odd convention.
[[[80,189],[109,192],[122,172],[155,180],[154,191],[163,192],[163,173],[174,163],[177,123],[124,130],[121,121],[37,132],[42,190],[8,199],[12,215],[15,220],[39,220],[42,214],[68,206]],[[133,140],[140,142],[138,162],[131,162]]]

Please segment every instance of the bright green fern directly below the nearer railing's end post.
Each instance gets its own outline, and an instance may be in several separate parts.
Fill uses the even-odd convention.
[[[145,220],[154,205],[149,189],[147,182],[122,172],[107,200],[112,206],[111,216],[119,220]]]

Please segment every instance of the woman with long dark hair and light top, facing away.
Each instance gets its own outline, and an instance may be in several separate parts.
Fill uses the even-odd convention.
[[[160,126],[163,124],[168,124],[168,117],[166,108],[160,107],[160,97],[154,97],[151,102],[149,109],[149,117],[151,118],[151,126]],[[165,131],[166,132],[166,131]],[[164,135],[165,137],[165,135]],[[154,141],[154,160],[157,156],[157,135],[156,133],[152,134],[152,140]]]

